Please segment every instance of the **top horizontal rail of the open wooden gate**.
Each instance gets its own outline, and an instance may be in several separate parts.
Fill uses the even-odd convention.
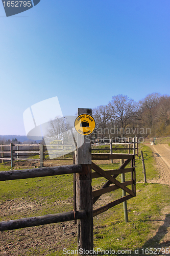
[[[127,148],[128,149],[128,148]],[[104,153],[99,153],[91,154],[91,159],[92,160],[109,160],[109,159],[133,159],[134,155],[133,154],[104,154]]]

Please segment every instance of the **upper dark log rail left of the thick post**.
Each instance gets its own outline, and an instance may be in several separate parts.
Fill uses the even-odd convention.
[[[28,179],[63,174],[74,174],[81,172],[82,166],[80,164],[61,165],[55,167],[42,167],[24,170],[9,170],[8,172],[0,172],[0,181]]]

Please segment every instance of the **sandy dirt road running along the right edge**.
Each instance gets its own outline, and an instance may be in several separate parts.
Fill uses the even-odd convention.
[[[164,184],[170,186],[170,147],[168,144],[150,146]]]

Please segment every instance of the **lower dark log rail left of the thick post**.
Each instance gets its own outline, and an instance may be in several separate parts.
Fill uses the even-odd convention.
[[[23,218],[19,220],[2,221],[0,222],[0,231],[40,226],[44,224],[57,223],[63,221],[79,220],[85,219],[86,217],[86,211],[79,210],[75,212],[68,211],[62,212],[61,214],[49,214],[38,217]]]

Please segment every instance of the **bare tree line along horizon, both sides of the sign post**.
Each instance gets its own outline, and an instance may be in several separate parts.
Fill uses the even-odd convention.
[[[152,93],[135,102],[127,95],[113,96],[107,105],[92,110],[96,122],[93,139],[115,139],[123,137],[152,138],[170,136],[170,96]],[[72,121],[70,121],[72,122]],[[71,124],[72,125],[72,124]],[[51,143],[72,141],[72,126],[65,118],[50,120],[46,139]],[[44,140],[42,141],[44,143]],[[16,138],[4,140],[0,144],[22,144]],[[24,144],[33,143],[31,141]],[[34,141],[34,143],[37,143]],[[45,144],[45,143],[44,143]]]

